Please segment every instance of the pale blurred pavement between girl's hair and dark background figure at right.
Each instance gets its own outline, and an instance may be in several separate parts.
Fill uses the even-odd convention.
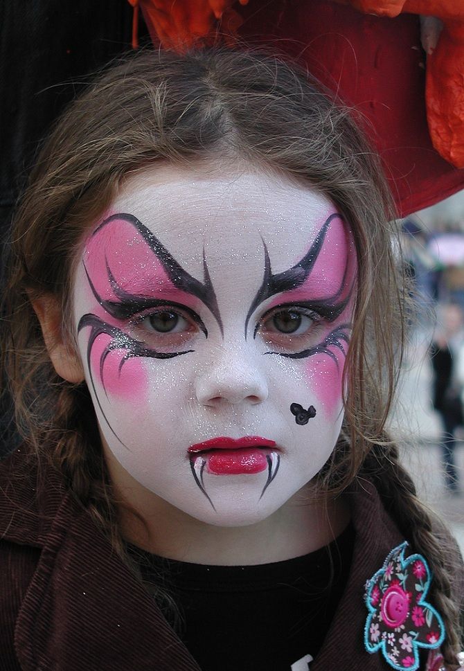
[[[431,366],[427,356],[430,338],[431,333],[425,330],[413,337],[389,427],[402,445],[402,460],[416,482],[418,494],[445,519],[464,556],[464,441],[455,451],[459,490],[450,495],[440,463],[440,417],[431,405]]]

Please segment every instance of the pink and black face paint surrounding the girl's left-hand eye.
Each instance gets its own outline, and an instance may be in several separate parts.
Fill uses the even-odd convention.
[[[78,330],[91,326],[87,359],[93,375],[98,370],[106,393],[125,396],[143,388],[143,367],[134,359],[163,359],[188,352],[158,351],[139,341],[130,333],[128,319],[136,315],[143,319],[150,310],[153,314],[165,307],[167,312],[169,303],[177,301],[183,301],[182,307],[190,314],[190,305],[203,301],[219,317],[206,271],[204,284],[188,275],[132,215],[111,215],[93,231],[84,251],[84,269],[97,305],[93,313],[82,316]]]

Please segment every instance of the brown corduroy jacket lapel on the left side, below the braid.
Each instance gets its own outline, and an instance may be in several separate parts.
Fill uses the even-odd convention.
[[[21,606],[15,645],[24,671],[199,671],[154,600],[69,495]]]

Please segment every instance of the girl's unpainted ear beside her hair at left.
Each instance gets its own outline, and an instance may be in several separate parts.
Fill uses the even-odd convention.
[[[46,294],[35,298],[32,304],[42,327],[48,356],[56,372],[68,382],[83,382],[84,368],[80,357],[64,341],[60,301],[56,296]]]

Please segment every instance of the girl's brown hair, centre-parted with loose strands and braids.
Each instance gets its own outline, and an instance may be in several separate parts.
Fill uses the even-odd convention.
[[[192,165],[221,157],[305,181],[332,199],[353,230],[359,282],[346,415],[319,487],[328,496],[357,476],[375,481],[404,537],[434,570],[433,598],[445,620],[443,648],[452,668],[458,611],[451,569],[398,448],[384,433],[404,337],[389,191],[350,111],[295,66],[230,49],[139,53],[101,75],[62,116],[39,155],[12,236],[3,351],[18,427],[37,452],[44,453],[46,442],[44,456],[121,550],[87,388],[53,370],[30,298],[55,294],[69,314],[75,250],[130,172],[156,161]]]

